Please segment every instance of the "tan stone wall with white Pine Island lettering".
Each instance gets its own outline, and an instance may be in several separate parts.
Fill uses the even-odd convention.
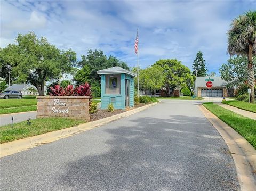
[[[90,120],[89,96],[37,96],[37,118]]]

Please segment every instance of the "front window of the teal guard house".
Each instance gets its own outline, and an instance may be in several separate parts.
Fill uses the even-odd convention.
[[[106,75],[106,94],[121,94],[121,75],[107,74]]]

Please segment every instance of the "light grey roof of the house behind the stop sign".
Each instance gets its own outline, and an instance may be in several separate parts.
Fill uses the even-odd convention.
[[[196,86],[197,87],[206,87],[206,82],[205,79],[209,79],[209,76],[203,76],[203,77],[196,77]],[[222,80],[220,77],[217,76],[210,76],[210,79],[213,79],[214,81],[212,82],[212,87],[226,87],[227,82]]]

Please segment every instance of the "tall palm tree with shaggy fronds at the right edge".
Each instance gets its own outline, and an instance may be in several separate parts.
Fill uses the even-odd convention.
[[[251,89],[251,102],[254,103],[253,56],[256,54],[256,11],[249,11],[238,16],[228,31],[228,53],[248,57],[248,85]]]

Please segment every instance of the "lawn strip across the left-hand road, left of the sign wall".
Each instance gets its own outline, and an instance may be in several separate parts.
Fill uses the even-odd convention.
[[[0,99],[0,109],[36,105],[37,99]]]

